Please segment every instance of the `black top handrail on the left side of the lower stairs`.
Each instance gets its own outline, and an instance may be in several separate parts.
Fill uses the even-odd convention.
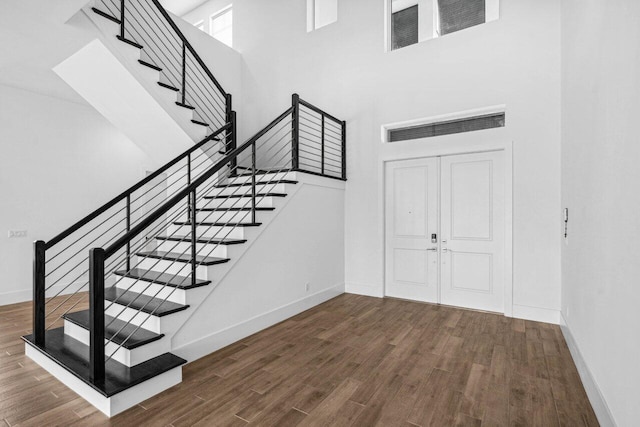
[[[181,161],[184,158],[186,158],[189,154],[191,154],[194,151],[196,151],[197,149],[201,148],[203,145],[205,145],[207,142],[211,141],[212,139],[214,139],[215,137],[220,135],[222,132],[225,132],[225,131],[231,129],[231,127],[232,127],[232,123],[227,123],[226,125],[224,125],[220,129],[218,129],[217,131],[212,133],[211,135],[209,135],[206,138],[204,138],[199,143],[195,144],[193,147],[190,147],[188,150],[184,151],[182,154],[180,154],[177,157],[175,157],[173,160],[171,160],[169,163],[167,163],[164,166],[162,166],[160,169],[158,169],[155,172],[153,172],[152,174],[146,176],[144,179],[138,181],[136,184],[134,184],[133,186],[129,187],[127,190],[125,190],[124,192],[122,192],[118,196],[114,197],[111,201],[105,203],[104,205],[102,205],[101,207],[99,207],[98,209],[96,209],[95,211],[90,213],[89,215],[85,216],[83,219],[81,219],[80,221],[78,221],[77,223],[72,225],[71,227],[67,228],[62,233],[58,234],[57,236],[55,236],[54,238],[52,238],[51,240],[46,242],[45,243],[45,249],[51,249],[53,246],[55,246],[56,244],[60,243],[62,240],[66,239],[71,234],[75,233],[76,231],[78,231],[79,229],[81,229],[82,227],[84,227],[85,225],[87,225],[88,223],[90,223],[91,221],[93,221],[94,219],[96,219],[97,217],[102,215],[103,213],[105,213],[107,210],[109,210],[110,208],[115,206],[118,202],[121,202],[127,196],[130,196],[133,192],[135,192],[136,190],[139,190],[144,185],[148,184],[153,179],[157,178],[161,173],[167,171],[170,167],[174,166],[176,163],[178,163],[179,161]]]

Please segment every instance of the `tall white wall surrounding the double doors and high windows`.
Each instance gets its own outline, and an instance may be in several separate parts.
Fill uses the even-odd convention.
[[[391,53],[384,2],[340,1],[338,22],[306,32],[306,2],[234,1],[234,43],[247,64],[242,126],[258,130],[298,92],[348,122],[348,291],[383,292],[380,127],[506,104],[514,143],[514,304],[558,321],[560,309],[560,6],[503,1],[501,19]],[[541,31],[544,29],[544,31]],[[468,135],[473,138],[473,134]]]

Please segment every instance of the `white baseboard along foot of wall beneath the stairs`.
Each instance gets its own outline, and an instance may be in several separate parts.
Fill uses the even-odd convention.
[[[172,353],[192,362],[343,293],[344,284],[341,283],[332,288],[322,290],[308,297],[252,317],[244,322],[198,339],[197,341],[192,341],[181,347],[174,348]]]

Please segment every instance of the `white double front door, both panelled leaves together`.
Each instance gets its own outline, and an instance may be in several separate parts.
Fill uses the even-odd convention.
[[[504,152],[385,172],[386,295],[504,312]]]

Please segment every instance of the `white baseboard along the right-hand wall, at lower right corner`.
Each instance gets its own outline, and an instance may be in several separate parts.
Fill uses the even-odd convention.
[[[571,352],[571,357],[573,357],[573,362],[576,364],[576,368],[580,374],[580,379],[582,380],[582,385],[587,392],[593,411],[596,413],[596,417],[598,417],[598,422],[602,427],[615,427],[616,422],[611,410],[609,409],[609,405],[607,405],[607,401],[602,395],[596,379],[591,374],[584,357],[582,357],[578,343],[573,337],[571,328],[567,324],[562,313],[560,313],[560,329],[562,330],[564,340],[567,342],[567,346]]]

